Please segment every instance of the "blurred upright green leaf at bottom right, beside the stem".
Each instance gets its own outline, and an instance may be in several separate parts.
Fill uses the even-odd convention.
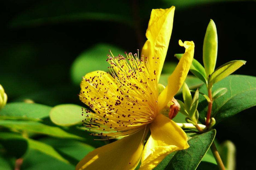
[[[227,170],[236,169],[236,146],[231,141],[225,141],[221,144],[219,150],[223,164]]]

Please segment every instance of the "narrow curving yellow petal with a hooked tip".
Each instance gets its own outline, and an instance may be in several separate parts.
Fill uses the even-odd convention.
[[[194,56],[194,42],[185,41],[184,43],[179,41],[180,46],[186,48],[185,53],[180,59],[175,71],[168,78],[168,85],[158,96],[158,113],[164,108],[164,106],[174,97],[174,95],[180,90],[186,76],[189,72],[190,65]]]

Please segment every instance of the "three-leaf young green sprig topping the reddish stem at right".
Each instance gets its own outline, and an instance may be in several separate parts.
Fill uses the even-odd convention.
[[[218,51],[218,36],[217,29],[213,20],[210,20],[207,31],[204,37],[203,45],[203,62],[204,67],[196,60],[193,59],[190,71],[199,79],[201,79],[207,87],[211,88],[212,85],[234,71],[239,69],[246,63],[244,60],[234,60],[221,65],[215,70]],[[180,60],[182,54],[175,54],[175,57]]]

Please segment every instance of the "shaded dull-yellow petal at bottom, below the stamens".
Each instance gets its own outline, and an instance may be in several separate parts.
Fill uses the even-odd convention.
[[[145,136],[143,129],[88,153],[76,170],[133,170],[140,161]]]

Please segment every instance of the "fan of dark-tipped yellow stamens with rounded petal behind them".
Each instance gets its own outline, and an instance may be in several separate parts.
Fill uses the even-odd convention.
[[[111,51],[110,51],[111,52]],[[139,51],[138,51],[139,53]],[[108,55],[110,72],[94,71],[83,77],[79,98],[85,128],[91,135],[113,139],[136,133],[157,114],[157,78],[139,54]],[[153,58],[157,62],[157,57]]]

